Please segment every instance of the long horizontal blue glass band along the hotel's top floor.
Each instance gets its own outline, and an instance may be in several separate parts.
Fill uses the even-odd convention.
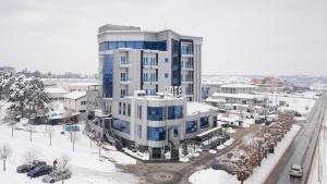
[[[105,41],[99,44],[99,51],[118,48],[149,49],[167,51],[167,42],[164,41]]]

